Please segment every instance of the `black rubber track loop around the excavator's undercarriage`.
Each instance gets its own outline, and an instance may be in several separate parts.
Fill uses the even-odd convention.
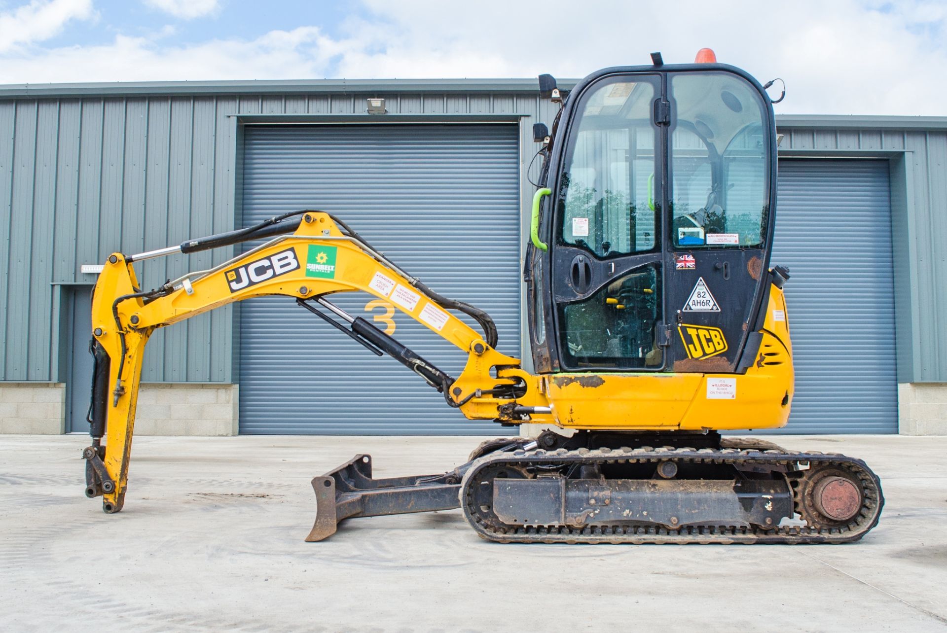
[[[816,466],[836,466],[855,475],[862,484],[863,505],[854,519],[843,527],[814,528],[784,526],[761,528],[727,525],[688,525],[677,529],[644,525],[612,525],[596,527],[521,526],[498,524],[472,507],[471,490],[482,484],[477,478],[487,466],[529,467],[567,466],[580,464],[623,464],[674,460],[694,464],[748,464],[799,466],[808,462]],[[791,483],[798,480],[791,479]],[[804,508],[793,485],[795,511],[805,518]],[[848,543],[865,536],[878,524],[884,506],[881,482],[863,462],[853,457],[820,452],[790,450],[739,450],[736,448],[579,448],[577,450],[545,451],[543,449],[486,455],[477,460],[464,475],[461,484],[461,506],[464,516],[480,536],[500,543],[632,543],[632,544],[815,544]]]

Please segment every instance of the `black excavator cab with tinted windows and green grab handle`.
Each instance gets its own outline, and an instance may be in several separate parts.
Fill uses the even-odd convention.
[[[759,83],[716,63],[607,68],[565,97],[548,138],[527,246],[536,371],[756,360],[776,197]]]

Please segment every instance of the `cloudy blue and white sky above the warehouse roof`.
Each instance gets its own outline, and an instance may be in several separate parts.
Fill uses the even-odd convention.
[[[947,115],[947,0],[0,0],[0,83],[579,78],[709,46],[777,112]]]

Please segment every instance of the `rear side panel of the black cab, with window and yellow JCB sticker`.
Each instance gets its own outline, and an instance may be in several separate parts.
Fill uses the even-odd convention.
[[[669,73],[668,97],[671,369],[732,372],[768,285],[768,108],[753,84],[721,71]]]

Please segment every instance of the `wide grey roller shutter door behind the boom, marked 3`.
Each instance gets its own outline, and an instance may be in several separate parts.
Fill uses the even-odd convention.
[[[318,208],[440,294],[487,310],[500,351],[520,354],[520,182],[514,125],[247,127],[243,224]],[[384,316],[365,293],[330,300]],[[387,356],[293,299],[240,307],[241,433],[496,434]],[[466,354],[406,315],[399,341],[456,377]],[[473,321],[464,318],[477,331]],[[384,323],[379,322],[383,329]]]

